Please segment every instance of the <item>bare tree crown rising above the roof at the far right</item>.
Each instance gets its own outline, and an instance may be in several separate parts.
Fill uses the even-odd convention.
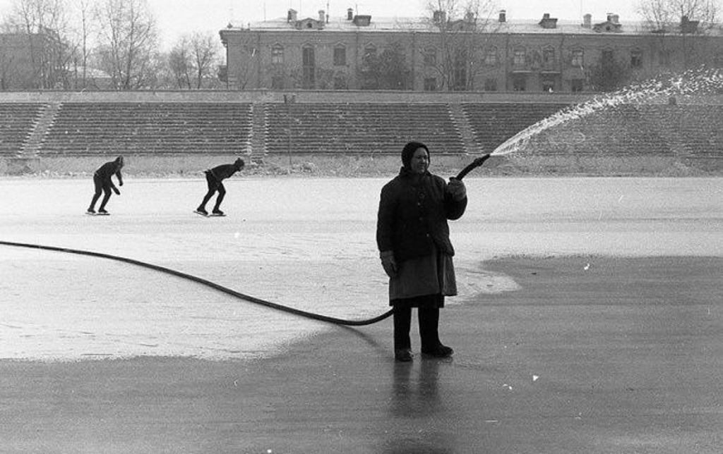
[[[638,0],[636,8],[656,32],[678,31],[683,17],[698,21],[701,30],[713,27],[721,12],[717,0]]]

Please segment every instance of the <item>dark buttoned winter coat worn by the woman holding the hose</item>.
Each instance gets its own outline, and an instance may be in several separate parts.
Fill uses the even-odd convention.
[[[384,185],[377,215],[377,247],[392,250],[398,262],[428,256],[432,245],[454,255],[448,219],[459,219],[467,198],[453,200],[447,182],[427,172],[414,175],[402,167],[399,175]]]

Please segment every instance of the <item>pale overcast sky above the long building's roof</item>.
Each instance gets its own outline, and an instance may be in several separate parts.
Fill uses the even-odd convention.
[[[67,0],[72,1],[72,0]],[[320,9],[332,17],[343,17],[346,9],[374,17],[419,17],[424,14],[424,0],[147,0],[161,32],[163,48],[168,48],[188,32],[217,33],[229,22],[247,25],[263,19],[286,17],[294,8],[299,17],[317,17]],[[0,0],[0,14],[7,14],[13,0]],[[620,21],[639,20],[633,3],[636,0],[497,0],[508,19],[539,19],[549,12],[558,19],[582,20],[590,13],[593,22],[604,20],[609,12],[619,14]],[[496,14],[495,14],[496,15]]]

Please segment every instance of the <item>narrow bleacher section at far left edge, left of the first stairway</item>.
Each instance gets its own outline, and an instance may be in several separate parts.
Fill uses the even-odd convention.
[[[43,103],[0,103],[0,156],[15,157],[20,154],[43,108]]]

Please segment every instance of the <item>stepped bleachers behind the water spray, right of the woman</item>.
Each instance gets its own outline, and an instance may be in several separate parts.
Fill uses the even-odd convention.
[[[564,112],[553,104],[466,104],[476,139],[494,150],[517,131]],[[562,115],[565,118],[565,115]],[[552,123],[552,122],[550,122]],[[723,156],[722,105],[622,104],[530,136],[526,155],[562,157]]]

